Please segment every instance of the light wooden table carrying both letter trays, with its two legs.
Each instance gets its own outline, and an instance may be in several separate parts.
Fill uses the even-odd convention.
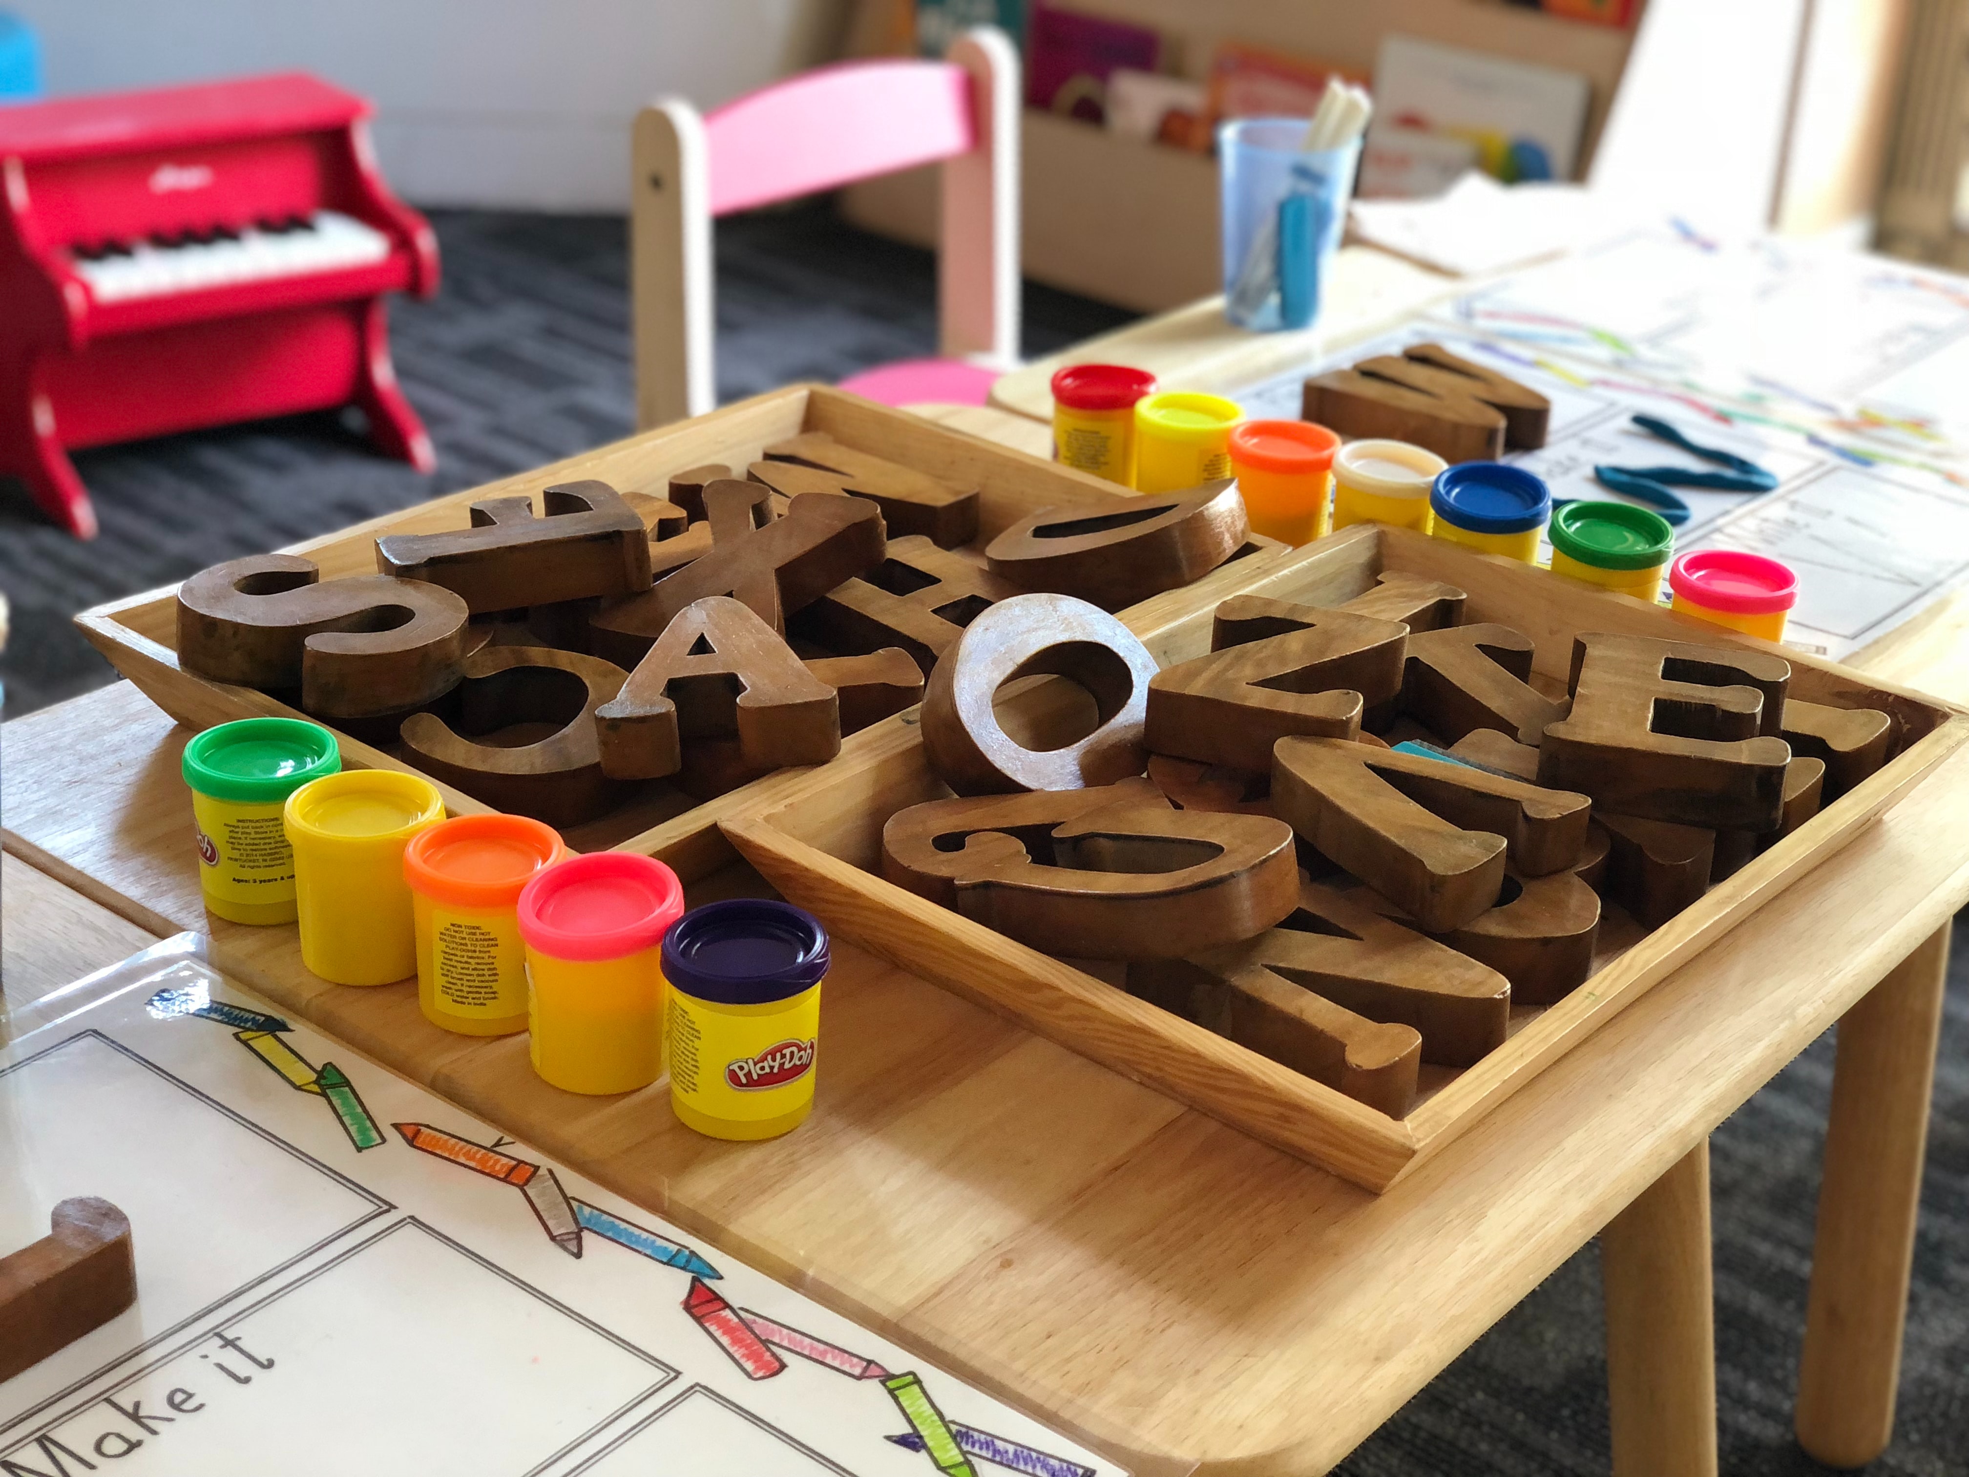
[[[209,920],[187,737],[128,683],[6,725],[10,884],[28,863],[95,926],[85,902],[211,930],[248,987],[1142,1473],[1325,1471],[1603,1227],[1619,1471],[1713,1471],[1707,1134],[1847,1016],[1827,1184],[1865,1213],[1821,1225],[1811,1349],[1839,1335],[1821,1400],[1884,1444],[1969,754],[1376,1197],[853,947],[799,1134],[717,1144],[648,1091],[557,1093],[524,1038],[449,1036],[410,985],[323,985],[291,930]],[[35,930],[10,981],[100,963],[65,939]]]

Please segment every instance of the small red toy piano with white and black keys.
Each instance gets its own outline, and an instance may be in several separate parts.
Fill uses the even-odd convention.
[[[0,108],[0,475],[93,538],[69,447],[347,404],[431,471],[382,295],[437,240],[368,112],[303,73]]]

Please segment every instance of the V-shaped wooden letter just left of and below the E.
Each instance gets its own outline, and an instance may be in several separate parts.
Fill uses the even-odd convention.
[[[1585,796],[1339,738],[1280,738],[1272,809],[1426,933],[1496,906],[1504,859],[1557,872],[1587,839]]]

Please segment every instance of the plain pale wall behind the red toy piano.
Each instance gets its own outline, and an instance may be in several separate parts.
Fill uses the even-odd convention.
[[[378,108],[421,205],[620,211],[628,124],[823,61],[843,0],[4,0],[49,95],[303,67]]]

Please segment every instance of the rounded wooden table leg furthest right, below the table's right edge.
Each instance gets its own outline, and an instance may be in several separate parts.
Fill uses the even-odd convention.
[[[1831,1467],[1867,1465],[1894,1434],[1947,967],[1943,926],[1839,1020],[1798,1369],[1798,1444]]]

